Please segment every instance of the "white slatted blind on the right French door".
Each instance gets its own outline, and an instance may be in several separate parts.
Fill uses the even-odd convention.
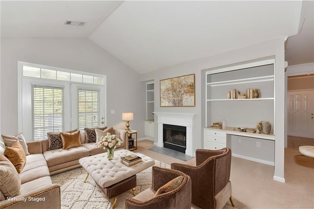
[[[78,88],[78,129],[98,127],[100,91]]]

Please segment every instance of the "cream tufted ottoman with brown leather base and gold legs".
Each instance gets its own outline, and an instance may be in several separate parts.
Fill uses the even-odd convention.
[[[114,152],[114,158],[108,160],[107,153],[101,153],[94,156],[89,156],[79,159],[79,163],[87,171],[86,182],[90,175],[105,193],[108,200],[114,198],[112,208],[116,206],[117,196],[122,193],[133,190],[135,196],[136,174],[153,166],[155,161],[141,153],[135,153],[142,158],[141,163],[137,163],[131,167],[120,162],[122,157],[134,154],[126,149],[117,150]]]

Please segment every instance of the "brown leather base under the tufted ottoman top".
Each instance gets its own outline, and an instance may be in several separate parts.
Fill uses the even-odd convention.
[[[97,184],[97,182],[96,182]],[[116,184],[113,184],[108,187],[101,187],[99,184],[97,184],[99,188],[105,193],[107,199],[112,199],[116,196],[121,195],[122,193],[133,189],[136,187],[136,175],[133,175],[125,180],[122,180]]]

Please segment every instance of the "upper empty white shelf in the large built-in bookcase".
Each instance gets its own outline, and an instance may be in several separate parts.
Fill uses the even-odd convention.
[[[228,81],[218,81],[207,83],[208,86],[225,86],[225,85],[233,85],[233,84],[241,84],[241,83],[257,83],[257,82],[265,82],[265,81],[273,81],[274,76],[260,76],[260,77],[252,77],[252,78],[241,78],[236,80],[228,80]]]

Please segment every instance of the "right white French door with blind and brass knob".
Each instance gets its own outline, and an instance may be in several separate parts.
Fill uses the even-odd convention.
[[[98,102],[96,102],[97,100]],[[76,128],[83,130],[84,127],[104,127],[106,125],[103,86],[72,83],[71,107],[72,130]]]

